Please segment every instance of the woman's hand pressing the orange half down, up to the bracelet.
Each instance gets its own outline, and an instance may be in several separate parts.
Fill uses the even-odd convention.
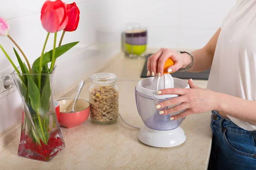
[[[168,58],[172,59],[174,62],[174,65],[168,68],[168,73],[173,73],[180,68],[185,68],[190,63],[190,56],[188,54],[180,54],[169,48],[161,48],[159,51],[148,57],[147,76],[155,76],[158,74],[158,76],[161,77],[163,75],[165,62]]]

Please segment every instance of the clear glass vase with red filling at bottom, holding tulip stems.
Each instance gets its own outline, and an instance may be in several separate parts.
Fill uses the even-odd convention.
[[[54,107],[52,78],[55,69],[51,74],[47,66],[41,74],[33,69],[31,74],[16,71],[11,74],[22,99],[18,156],[50,161],[65,147]],[[21,73],[22,69],[19,70]]]

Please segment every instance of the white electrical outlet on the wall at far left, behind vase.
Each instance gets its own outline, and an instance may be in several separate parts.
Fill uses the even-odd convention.
[[[13,93],[16,89],[13,85],[6,85],[4,82],[13,82],[12,76],[10,74],[0,78],[0,99]]]

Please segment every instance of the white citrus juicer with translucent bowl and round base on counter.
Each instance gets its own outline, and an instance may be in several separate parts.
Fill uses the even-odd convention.
[[[171,116],[184,110],[161,115],[159,111],[172,108],[175,105],[156,108],[158,103],[178,96],[177,94],[157,94],[157,91],[166,88],[190,87],[186,81],[172,77],[171,74],[142,79],[135,87],[137,110],[144,123],[144,126],[140,128],[138,139],[153,147],[174,147],[186,140],[184,130],[180,127],[185,118],[170,120]]]

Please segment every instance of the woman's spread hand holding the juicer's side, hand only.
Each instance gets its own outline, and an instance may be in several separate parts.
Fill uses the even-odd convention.
[[[166,100],[157,104],[156,108],[160,109],[170,105],[176,105],[172,108],[160,111],[160,114],[170,114],[185,110],[177,115],[171,116],[171,120],[180,119],[185,116],[205,113],[207,111],[217,110],[218,108],[218,93],[208,89],[199,88],[194,84],[192,79],[189,79],[190,88],[169,88],[158,91],[163,94],[178,94],[180,96]],[[181,103],[181,104],[180,104]],[[180,104],[180,105],[177,105]]]

